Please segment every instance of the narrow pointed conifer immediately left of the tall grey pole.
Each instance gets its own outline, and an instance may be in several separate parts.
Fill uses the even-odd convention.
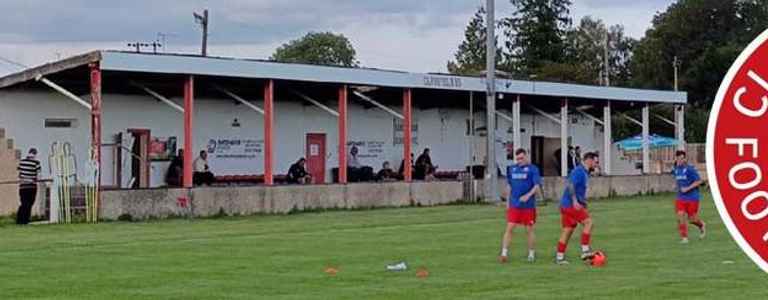
[[[485,70],[486,37],[485,8],[480,7],[464,30],[464,41],[448,61],[448,72],[457,75],[479,75]],[[496,50],[497,63],[501,60],[501,49]]]

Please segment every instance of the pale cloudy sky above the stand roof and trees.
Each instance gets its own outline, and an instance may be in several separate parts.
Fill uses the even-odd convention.
[[[583,16],[620,24],[641,38],[673,0],[573,0]],[[129,50],[164,40],[174,53],[199,53],[192,12],[210,10],[209,55],[268,58],[309,31],[348,37],[365,67],[445,72],[464,29],[485,0],[2,0],[0,58],[39,65],[96,49]],[[513,9],[496,1],[498,18]],[[151,50],[148,50],[151,51]],[[0,61],[0,75],[20,67]]]

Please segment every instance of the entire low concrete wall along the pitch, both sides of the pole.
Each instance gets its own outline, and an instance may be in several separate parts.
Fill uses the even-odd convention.
[[[347,185],[202,187],[185,189],[119,190],[102,193],[101,217],[134,220],[172,216],[287,214],[327,209],[434,206],[464,201],[465,186],[483,191],[484,182],[360,183]],[[500,189],[506,184],[500,182]],[[545,177],[545,199],[559,199],[563,179]],[[613,176],[590,179],[590,198],[631,196],[674,191],[670,175]],[[187,198],[189,197],[189,198]],[[190,199],[184,207],[179,199]],[[181,201],[183,203],[183,201]]]

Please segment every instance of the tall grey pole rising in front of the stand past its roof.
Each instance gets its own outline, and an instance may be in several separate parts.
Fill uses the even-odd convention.
[[[497,187],[496,174],[496,16],[495,1],[486,1],[486,135],[487,155],[485,174],[488,179],[486,199],[492,202],[499,201],[499,189]]]

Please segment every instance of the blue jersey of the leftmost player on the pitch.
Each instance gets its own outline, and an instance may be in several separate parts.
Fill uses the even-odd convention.
[[[507,167],[507,182],[510,188],[508,207],[536,208],[536,194],[525,202],[521,202],[520,197],[530,192],[534,186],[541,185],[539,168],[532,164],[511,165]]]

